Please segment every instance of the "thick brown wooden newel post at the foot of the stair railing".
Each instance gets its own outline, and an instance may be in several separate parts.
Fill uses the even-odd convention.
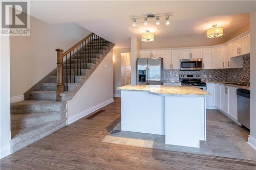
[[[64,91],[63,86],[63,58],[62,58],[62,49],[56,49],[57,51],[57,90],[56,90],[56,101],[61,101],[61,93]]]

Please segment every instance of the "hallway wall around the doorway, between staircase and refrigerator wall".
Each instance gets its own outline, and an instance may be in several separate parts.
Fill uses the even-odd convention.
[[[120,90],[117,87],[121,86],[121,53],[129,53],[131,48],[114,48],[113,49],[113,91],[114,96],[120,96]]]

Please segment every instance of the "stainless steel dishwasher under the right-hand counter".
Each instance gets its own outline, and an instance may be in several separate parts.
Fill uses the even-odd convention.
[[[237,89],[238,122],[250,129],[250,90]]]

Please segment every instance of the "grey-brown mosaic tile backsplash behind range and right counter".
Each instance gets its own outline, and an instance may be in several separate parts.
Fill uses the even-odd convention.
[[[250,83],[250,56],[243,57],[243,68],[204,69],[199,71],[164,70],[164,81],[179,81],[179,75],[198,74],[207,81]]]

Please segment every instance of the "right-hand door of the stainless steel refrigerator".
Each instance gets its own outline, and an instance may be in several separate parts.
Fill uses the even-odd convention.
[[[161,85],[162,58],[148,58],[148,84]]]

